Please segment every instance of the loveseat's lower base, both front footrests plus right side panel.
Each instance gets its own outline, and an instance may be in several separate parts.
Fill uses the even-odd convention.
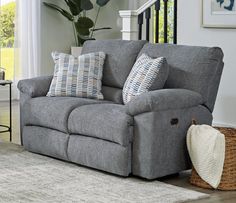
[[[198,106],[135,116],[132,147],[35,126],[24,127],[23,141],[32,152],[121,176],[132,173],[152,180],[191,168],[186,134],[193,119],[210,125],[212,115]]]

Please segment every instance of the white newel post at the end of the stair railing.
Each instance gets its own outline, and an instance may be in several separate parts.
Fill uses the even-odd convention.
[[[122,18],[122,39],[138,40],[138,13],[132,10],[119,11]]]

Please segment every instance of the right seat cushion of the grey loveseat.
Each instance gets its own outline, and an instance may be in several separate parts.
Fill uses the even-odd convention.
[[[124,105],[94,104],[74,109],[68,120],[71,134],[80,134],[127,146],[133,135],[133,118]]]

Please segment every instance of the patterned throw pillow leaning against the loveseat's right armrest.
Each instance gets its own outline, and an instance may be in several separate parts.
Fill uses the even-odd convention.
[[[127,104],[135,96],[164,87],[169,66],[164,57],[152,59],[142,54],[134,64],[123,88],[123,101]]]

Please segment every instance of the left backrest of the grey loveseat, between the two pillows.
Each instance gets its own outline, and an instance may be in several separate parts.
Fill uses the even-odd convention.
[[[82,54],[102,51],[106,54],[103,85],[123,88],[139,51],[146,41],[96,40],[85,42]]]

